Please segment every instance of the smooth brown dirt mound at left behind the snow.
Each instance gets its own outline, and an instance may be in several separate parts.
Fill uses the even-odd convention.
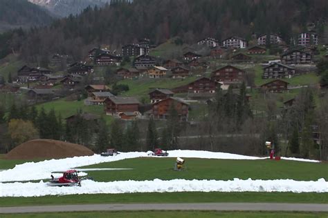
[[[26,141],[10,150],[6,159],[60,159],[75,156],[90,156],[93,151],[85,146],[51,139]]]

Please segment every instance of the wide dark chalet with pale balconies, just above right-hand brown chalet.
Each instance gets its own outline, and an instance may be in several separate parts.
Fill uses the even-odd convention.
[[[271,63],[263,68],[262,79],[283,79],[295,75],[295,69],[281,63]]]

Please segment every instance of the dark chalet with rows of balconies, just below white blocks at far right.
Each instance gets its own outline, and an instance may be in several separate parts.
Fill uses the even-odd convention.
[[[312,55],[302,50],[291,50],[281,56],[283,64],[308,64],[312,63]]]

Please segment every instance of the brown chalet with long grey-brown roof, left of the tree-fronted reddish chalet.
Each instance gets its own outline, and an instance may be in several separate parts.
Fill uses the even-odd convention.
[[[135,97],[108,97],[105,101],[106,115],[119,115],[120,112],[134,112],[139,115],[140,102]]]

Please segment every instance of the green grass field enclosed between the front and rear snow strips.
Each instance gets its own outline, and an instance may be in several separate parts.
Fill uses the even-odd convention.
[[[152,179],[295,179],[328,180],[327,164],[301,161],[227,160],[186,158],[185,170],[174,171],[174,158],[136,158],[83,168],[133,168],[119,171],[88,172],[95,181]]]

